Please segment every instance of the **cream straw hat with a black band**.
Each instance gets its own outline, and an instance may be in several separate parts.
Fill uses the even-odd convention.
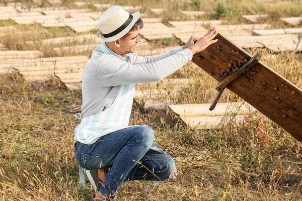
[[[139,12],[131,15],[120,6],[112,6],[98,20],[99,36],[103,41],[115,41],[126,35],[138,19]]]

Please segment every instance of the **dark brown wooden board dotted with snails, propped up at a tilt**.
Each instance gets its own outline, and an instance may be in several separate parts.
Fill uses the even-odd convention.
[[[217,43],[195,54],[192,61],[219,81],[218,74],[229,68],[231,59],[250,59],[252,55],[220,34],[216,38]],[[255,74],[244,73],[226,88],[302,141],[302,90],[262,62],[254,67]]]

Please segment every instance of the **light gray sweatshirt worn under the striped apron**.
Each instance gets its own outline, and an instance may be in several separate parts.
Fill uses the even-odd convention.
[[[109,108],[121,85],[159,81],[192,60],[192,52],[182,47],[154,56],[108,55],[97,47],[85,65],[82,76],[81,118]]]

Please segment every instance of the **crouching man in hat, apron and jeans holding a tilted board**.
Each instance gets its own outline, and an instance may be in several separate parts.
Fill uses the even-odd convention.
[[[141,57],[134,56],[143,27],[139,13],[110,7],[98,21],[97,47],[82,77],[81,124],[75,128],[74,155],[98,191],[91,200],[112,197],[123,181],[151,180],[154,184],[177,174],[174,160],[154,141],[146,125],[128,126],[135,83],[154,82],[172,74],[210,44],[215,28],[202,38],[191,37],[180,48]],[[142,168],[143,167],[143,168]],[[101,184],[99,179],[104,179]],[[101,185],[100,185],[101,184]]]

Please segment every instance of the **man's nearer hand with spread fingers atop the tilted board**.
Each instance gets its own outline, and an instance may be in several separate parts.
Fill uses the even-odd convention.
[[[205,50],[209,45],[216,43],[218,41],[218,39],[212,40],[213,38],[215,38],[215,36],[217,34],[218,34],[218,32],[216,32],[216,28],[213,27],[210,29],[210,31],[208,33],[206,33],[203,37],[198,39],[196,42],[194,42],[193,45],[191,45],[188,48],[192,51],[193,55],[198,52],[201,52],[201,51]]]

